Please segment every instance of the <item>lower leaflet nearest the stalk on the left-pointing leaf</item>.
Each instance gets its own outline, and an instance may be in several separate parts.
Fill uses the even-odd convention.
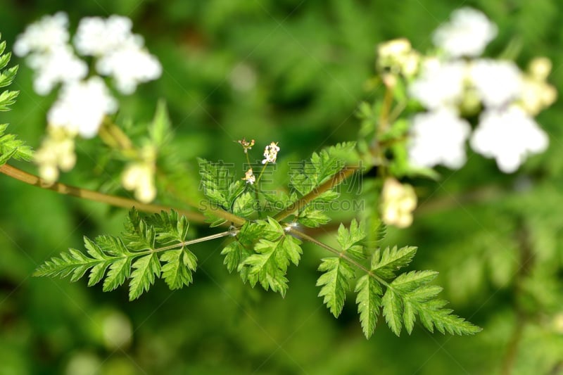
[[[165,262],[162,276],[172,290],[188,286],[192,281],[192,272],[197,268],[197,258],[186,248],[167,250],[160,255],[160,261]]]

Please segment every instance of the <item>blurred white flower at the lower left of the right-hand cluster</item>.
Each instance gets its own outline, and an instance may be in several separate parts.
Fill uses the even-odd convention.
[[[442,108],[415,115],[408,146],[410,163],[420,167],[438,164],[452,169],[462,167],[466,160],[465,141],[470,132],[469,123],[454,110]]]

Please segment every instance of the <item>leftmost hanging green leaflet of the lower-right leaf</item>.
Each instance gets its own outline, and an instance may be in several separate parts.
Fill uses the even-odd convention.
[[[319,266],[323,274],[317,279],[317,286],[322,286],[319,297],[334,317],[339,317],[350,289],[350,280],[354,277],[354,269],[340,257],[324,258]]]

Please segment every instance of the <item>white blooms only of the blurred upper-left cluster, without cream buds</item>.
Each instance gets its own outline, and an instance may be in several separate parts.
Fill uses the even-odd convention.
[[[132,94],[140,82],[160,76],[158,60],[144,50],[143,38],[132,34],[129,18],[112,15],[107,20],[83,18],[74,37],[81,56],[96,58],[96,71],[113,77],[122,94]],[[58,100],[49,111],[50,126],[65,127],[84,138],[97,134],[104,116],[115,113],[117,103],[101,77],[89,75],[87,63],[70,44],[68,17],[59,12],[46,15],[18,36],[14,53],[28,56],[35,70],[34,90],[49,94],[63,84]]]

